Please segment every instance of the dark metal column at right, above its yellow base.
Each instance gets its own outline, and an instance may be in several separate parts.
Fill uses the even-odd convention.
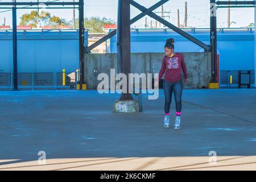
[[[210,0],[210,51],[211,53],[211,72],[212,78],[210,82],[217,82],[217,13],[216,0]]]

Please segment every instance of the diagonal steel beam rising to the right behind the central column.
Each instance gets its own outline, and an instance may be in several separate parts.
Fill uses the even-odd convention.
[[[164,3],[168,2],[169,0],[162,0],[159,1],[158,3],[156,3],[155,5],[151,6],[149,9],[143,11],[143,13],[135,16],[133,19],[130,20],[130,24],[133,24],[135,22],[137,22],[139,19],[141,19],[143,16],[146,16],[148,13],[151,13],[151,11],[154,11],[155,9],[157,9],[158,7],[162,6]],[[110,32],[108,35],[105,35],[103,38],[101,38],[100,40],[98,40],[96,43],[93,43],[92,45],[89,46],[89,50],[92,51],[92,49],[96,48],[97,46],[99,46],[100,44],[104,43],[106,40],[112,38],[112,36],[114,36],[115,34],[117,34],[117,30],[113,30],[112,32]]]

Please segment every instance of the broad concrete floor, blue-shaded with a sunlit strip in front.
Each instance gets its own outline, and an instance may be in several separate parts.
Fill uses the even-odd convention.
[[[163,128],[163,90],[158,100],[143,94],[143,113],[113,113],[119,97],[0,92],[0,170],[256,169],[256,89],[183,90],[180,131]],[[39,151],[49,165],[38,166]]]

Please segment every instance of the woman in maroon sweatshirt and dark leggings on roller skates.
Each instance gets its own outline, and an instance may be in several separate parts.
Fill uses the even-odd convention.
[[[181,95],[182,95],[182,71],[184,73],[184,81],[188,81],[187,67],[184,62],[183,55],[181,53],[174,52],[174,39],[166,40],[166,46],[164,46],[164,52],[166,56],[163,58],[162,67],[159,71],[158,81],[155,82],[155,86],[158,86],[159,79],[164,75],[164,127],[170,127],[170,106],[172,101],[172,92],[174,92],[175,104],[176,104],[176,119],[174,129],[180,129],[180,115],[181,115]]]

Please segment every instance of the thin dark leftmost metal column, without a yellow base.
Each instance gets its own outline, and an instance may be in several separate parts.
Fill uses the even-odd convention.
[[[13,0],[16,3],[16,0]],[[18,90],[18,63],[17,63],[17,15],[16,5],[13,5],[13,90]]]

